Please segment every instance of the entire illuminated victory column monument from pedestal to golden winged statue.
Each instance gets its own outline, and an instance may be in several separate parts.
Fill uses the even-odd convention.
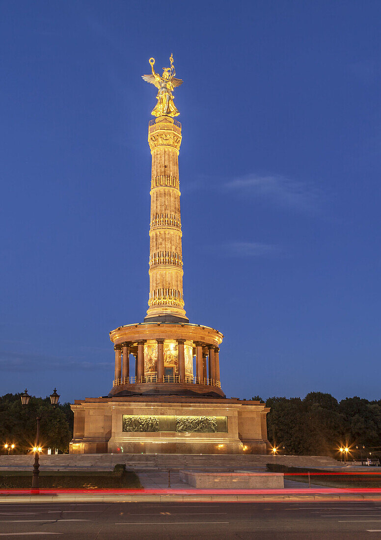
[[[115,374],[108,396],[76,400],[71,453],[266,453],[266,409],[226,399],[220,386],[223,335],[192,324],[183,298],[178,154],[182,141],[173,90],[173,57],[163,74],[143,79],[157,87],[149,122],[152,155],[150,291],[144,322],[110,332]],[[130,372],[130,356],[135,371]],[[193,372],[193,358],[195,372]],[[238,359],[237,359],[238,360]],[[237,361],[235,360],[235,361]]]

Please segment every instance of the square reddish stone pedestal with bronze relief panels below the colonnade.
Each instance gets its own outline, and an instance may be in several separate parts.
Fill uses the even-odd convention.
[[[266,454],[262,419],[268,409],[255,401],[99,397],[76,400],[71,408],[75,415],[71,453],[248,454],[252,444],[255,453]]]

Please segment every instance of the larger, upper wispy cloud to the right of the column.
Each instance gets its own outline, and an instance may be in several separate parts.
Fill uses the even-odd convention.
[[[245,197],[261,197],[272,204],[303,212],[316,211],[321,198],[313,184],[276,174],[268,176],[249,174],[231,180],[225,184],[225,188]]]

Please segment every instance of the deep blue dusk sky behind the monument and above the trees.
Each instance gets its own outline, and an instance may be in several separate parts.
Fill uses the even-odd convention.
[[[175,58],[185,309],[228,397],[380,395],[381,3],[3,2],[0,395],[106,395]]]

